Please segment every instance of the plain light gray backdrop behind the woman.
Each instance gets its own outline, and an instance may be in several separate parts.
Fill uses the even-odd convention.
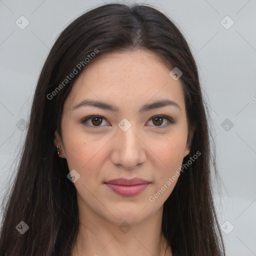
[[[222,181],[214,196],[227,255],[256,255],[256,0],[144,2],[178,24],[198,64]],[[0,201],[14,178],[22,124],[49,48],[70,21],[100,3],[0,0]],[[21,15],[29,21],[24,29],[15,23]]]

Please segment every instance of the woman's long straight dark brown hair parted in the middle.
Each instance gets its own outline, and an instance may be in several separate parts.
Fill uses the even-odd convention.
[[[182,71],[179,79],[191,139],[183,162],[201,153],[179,176],[164,202],[162,232],[173,256],[225,255],[210,179],[211,163],[217,176],[215,147],[210,144],[207,107],[189,46],[174,22],[150,5],[111,3],[72,21],[45,60],[15,180],[3,201],[0,256],[71,255],[79,227],[76,189],[67,178],[66,159],[54,150],[54,131],[61,136],[63,103],[84,68],[103,54],[135,49],[151,50],[170,70]],[[91,52],[95,52],[93,58],[85,60]],[[65,80],[74,69],[74,77]],[[28,225],[23,234],[16,228],[20,221]]]

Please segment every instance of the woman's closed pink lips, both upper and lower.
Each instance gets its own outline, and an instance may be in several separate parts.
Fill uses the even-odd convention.
[[[119,195],[132,196],[139,194],[142,190],[146,188],[149,184],[149,181],[146,181],[141,178],[118,178],[106,181],[105,184],[115,193]]]

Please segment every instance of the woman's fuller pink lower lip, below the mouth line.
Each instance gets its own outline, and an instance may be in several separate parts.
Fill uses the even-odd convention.
[[[126,196],[132,196],[132,195],[137,195],[141,191],[143,191],[149,183],[144,183],[144,184],[137,184],[137,185],[129,185],[129,186],[124,186],[124,185],[116,185],[116,184],[109,184],[105,183],[112,191],[119,195],[126,195]]]

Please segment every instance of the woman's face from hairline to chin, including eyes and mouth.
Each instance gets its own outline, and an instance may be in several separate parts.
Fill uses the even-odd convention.
[[[135,50],[95,60],[75,81],[64,103],[62,140],[55,134],[59,156],[75,170],[79,214],[132,224],[162,209],[189,153],[181,81],[169,72],[154,53]],[[163,100],[176,105],[153,104]],[[85,120],[89,115],[97,117]],[[145,183],[110,184],[134,177]]]

